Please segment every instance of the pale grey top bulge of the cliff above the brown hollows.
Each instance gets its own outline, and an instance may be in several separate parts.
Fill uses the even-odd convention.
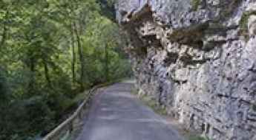
[[[116,18],[120,24],[136,21],[145,9],[157,24],[186,29],[195,24],[221,23],[236,10],[241,0],[119,0]],[[143,17],[140,17],[143,18]]]

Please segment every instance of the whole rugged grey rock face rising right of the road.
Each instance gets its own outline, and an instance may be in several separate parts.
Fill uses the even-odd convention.
[[[213,140],[256,139],[256,1],[119,0],[137,88]]]

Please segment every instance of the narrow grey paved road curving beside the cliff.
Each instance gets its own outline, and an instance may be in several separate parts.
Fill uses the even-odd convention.
[[[117,83],[93,99],[76,140],[181,140],[177,131],[131,94],[133,83]]]

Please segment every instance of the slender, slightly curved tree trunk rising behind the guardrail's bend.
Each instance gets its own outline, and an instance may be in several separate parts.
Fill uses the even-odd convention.
[[[81,65],[80,86],[81,86],[81,91],[82,91],[82,90],[84,90],[85,59],[84,59],[83,50],[82,50],[81,38],[80,38],[80,35],[78,32],[78,27],[76,26],[76,23],[73,23],[73,27],[74,27],[75,34],[76,34],[79,60],[80,60],[80,65]]]

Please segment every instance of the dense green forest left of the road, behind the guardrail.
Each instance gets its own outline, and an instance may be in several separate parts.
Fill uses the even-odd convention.
[[[0,139],[39,139],[93,85],[131,76],[114,0],[0,0]]]

